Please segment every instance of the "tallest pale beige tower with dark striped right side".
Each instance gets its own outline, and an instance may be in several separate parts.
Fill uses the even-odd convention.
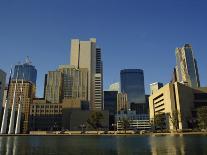
[[[101,110],[103,106],[103,65],[101,49],[96,39],[80,41],[72,39],[70,64],[76,68],[88,69],[88,98],[90,109]]]

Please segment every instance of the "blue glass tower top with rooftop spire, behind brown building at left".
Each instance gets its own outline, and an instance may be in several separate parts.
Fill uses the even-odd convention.
[[[18,77],[17,77],[18,72]],[[30,81],[36,85],[37,70],[35,66],[31,65],[31,62],[27,59],[24,64],[15,65],[13,79],[24,79]]]

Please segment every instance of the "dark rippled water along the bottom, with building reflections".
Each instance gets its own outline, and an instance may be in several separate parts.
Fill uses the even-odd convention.
[[[0,155],[207,154],[207,136],[0,137]]]

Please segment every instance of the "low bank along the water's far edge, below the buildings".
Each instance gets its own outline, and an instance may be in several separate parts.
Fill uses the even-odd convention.
[[[80,131],[70,131],[66,133],[60,132],[32,132],[30,134],[0,134],[0,136],[182,136],[182,135],[205,135],[207,136],[207,132],[183,132],[183,133],[143,133],[136,134],[132,132],[109,132],[104,133],[104,131],[99,131],[98,133],[95,131],[88,131],[82,134]]]

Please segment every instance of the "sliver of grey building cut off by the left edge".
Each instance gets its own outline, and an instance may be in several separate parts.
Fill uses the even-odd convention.
[[[0,117],[1,117],[1,110],[3,105],[5,83],[6,83],[6,73],[0,69]]]

